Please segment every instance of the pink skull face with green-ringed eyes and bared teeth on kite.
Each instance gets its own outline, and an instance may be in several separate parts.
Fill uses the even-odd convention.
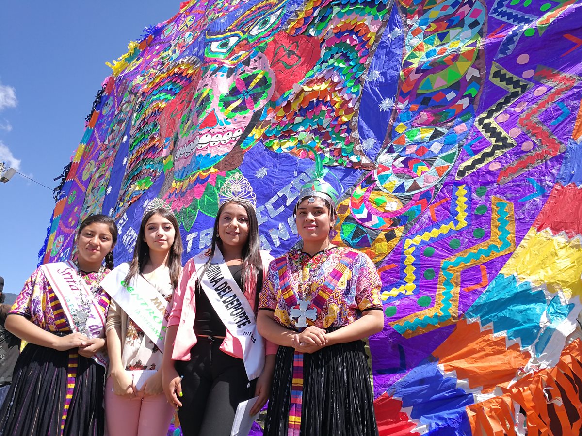
[[[264,50],[284,21],[285,5],[262,2],[224,33],[207,34],[202,77],[179,124],[175,180],[211,167],[233,169],[253,145],[251,120],[274,92],[275,74]],[[233,159],[223,163],[227,155]]]

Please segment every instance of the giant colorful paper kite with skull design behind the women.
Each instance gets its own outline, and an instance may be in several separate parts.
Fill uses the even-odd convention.
[[[382,277],[380,433],[579,434],[581,3],[182,3],[110,65],[41,260],[95,212],[128,260],[154,197],[190,258],[233,173],[278,255],[310,143],[342,195],[336,242]]]

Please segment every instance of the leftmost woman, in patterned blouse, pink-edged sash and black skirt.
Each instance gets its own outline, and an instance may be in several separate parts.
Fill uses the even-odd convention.
[[[77,233],[77,259],[42,265],[24,284],[6,330],[28,344],[0,410],[0,435],[104,433],[109,295],[100,284],[116,241],[115,222],[91,215]]]

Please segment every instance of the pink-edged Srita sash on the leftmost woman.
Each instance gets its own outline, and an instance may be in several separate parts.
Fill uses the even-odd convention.
[[[61,302],[63,312],[69,321],[69,326],[74,332],[80,331],[74,319],[82,316],[84,321],[84,329],[80,331],[88,338],[102,338],[105,332],[105,315],[101,310],[99,303],[95,300],[91,290],[87,288],[87,284],[77,276],[77,267],[73,262],[45,263],[42,265],[44,274],[51,284],[52,290],[56,297]],[[79,283],[81,289],[79,289]],[[79,292],[82,292],[84,298],[90,302],[90,307],[87,313],[86,308],[80,307],[80,301],[77,298]],[[81,315],[79,315],[81,314]],[[93,356],[95,362],[107,368],[107,358],[103,352],[97,352]]]

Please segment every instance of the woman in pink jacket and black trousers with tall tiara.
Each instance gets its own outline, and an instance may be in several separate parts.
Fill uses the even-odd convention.
[[[228,195],[248,192],[244,183],[225,181],[210,249],[186,263],[174,294],[162,370],[185,436],[229,436],[239,403],[258,396],[258,413],[271,387],[276,348],[265,358],[255,325],[270,256],[259,251],[254,205]]]

